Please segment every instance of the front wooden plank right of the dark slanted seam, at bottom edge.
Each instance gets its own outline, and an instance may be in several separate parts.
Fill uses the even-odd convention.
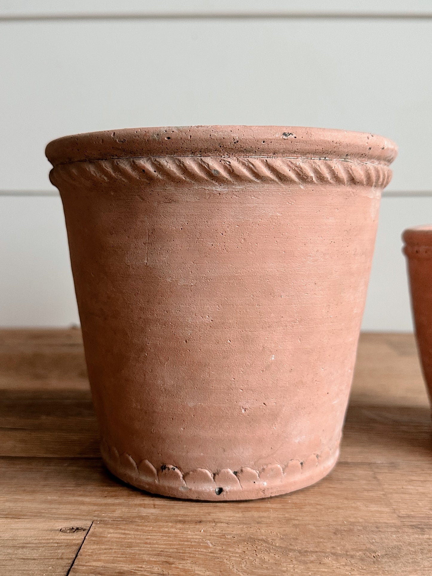
[[[400,526],[346,522],[324,516],[275,521],[271,526],[208,518],[169,522],[96,522],[71,576],[220,576],[244,574],[362,574],[424,576],[430,570],[430,535]],[[127,552],[126,552],[127,551]],[[125,553],[126,552],[126,553]]]

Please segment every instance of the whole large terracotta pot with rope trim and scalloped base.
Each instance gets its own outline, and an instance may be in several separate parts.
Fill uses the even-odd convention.
[[[280,126],[48,145],[116,476],[223,501],[329,472],[395,156],[380,136]]]

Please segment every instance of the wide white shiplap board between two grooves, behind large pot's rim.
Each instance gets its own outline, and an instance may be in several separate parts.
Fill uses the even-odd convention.
[[[0,24],[1,188],[44,190],[44,146],[178,124],[372,131],[400,146],[393,190],[432,190],[432,20]]]

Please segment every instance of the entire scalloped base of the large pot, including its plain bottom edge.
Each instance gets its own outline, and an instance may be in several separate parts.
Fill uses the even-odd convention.
[[[217,472],[196,468],[185,473],[170,464],[158,469],[148,460],[137,464],[129,454],[119,454],[105,441],[101,453],[110,472],[141,490],[172,498],[220,502],[268,498],[310,486],[334,467],[339,446],[310,454],[304,461],[290,460],[284,466],[268,464],[260,470],[244,467],[236,471],[223,468]]]

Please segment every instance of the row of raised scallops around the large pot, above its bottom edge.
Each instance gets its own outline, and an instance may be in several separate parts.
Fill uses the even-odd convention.
[[[290,460],[286,465],[268,464],[261,469],[242,467],[238,470],[223,468],[211,472],[204,468],[196,468],[190,472],[181,472],[172,464],[154,467],[148,460],[138,463],[126,452],[119,454],[114,446],[107,441],[101,442],[101,453],[105,462],[113,469],[121,469],[131,484],[140,483],[147,486],[163,486],[180,491],[203,490],[215,492],[247,490],[253,487],[265,487],[267,484],[282,483],[285,479],[298,478],[316,468],[319,463],[325,463],[332,453],[325,448],[320,454],[310,454],[305,460]]]

